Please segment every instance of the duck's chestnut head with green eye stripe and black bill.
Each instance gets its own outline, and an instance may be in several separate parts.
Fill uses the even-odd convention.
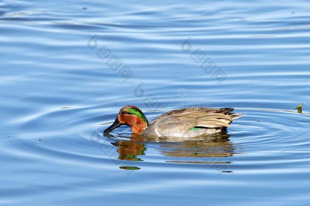
[[[141,109],[136,106],[126,106],[119,110],[114,123],[104,132],[110,132],[121,125],[130,126],[133,133],[141,134],[148,122]]]

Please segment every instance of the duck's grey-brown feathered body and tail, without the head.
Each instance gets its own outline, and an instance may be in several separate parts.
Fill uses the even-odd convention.
[[[171,110],[154,119],[142,135],[157,137],[197,137],[214,134],[230,127],[239,114],[233,108],[194,107]]]

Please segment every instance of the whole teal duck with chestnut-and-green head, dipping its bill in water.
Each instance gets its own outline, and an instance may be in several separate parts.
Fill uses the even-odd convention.
[[[104,130],[112,130],[127,125],[137,135],[149,137],[193,138],[225,131],[230,124],[243,116],[233,113],[234,108],[191,107],[174,109],[161,114],[148,123],[142,110],[136,106],[122,107],[114,123]]]

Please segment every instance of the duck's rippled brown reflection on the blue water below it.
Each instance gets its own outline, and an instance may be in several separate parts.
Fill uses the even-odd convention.
[[[235,148],[229,140],[227,132],[213,136],[199,137],[188,141],[177,141],[173,138],[151,139],[152,142],[162,142],[152,144],[163,156],[181,157],[182,159],[167,160],[170,163],[192,163],[192,164],[229,164],[230,161],[221,161],[223,157],[230,157],[235,154]],[[111,137],[111,136],[110,136]],[[133,134],[130,141],[117,141],[112,143],[117,146],[118,159],[143,161],[143,155],[147,150],[149,138]],[[195,158],[195,159],[188,159]],[[221,159],[221,160],[220,160]],[[215,166],[219,167],[219,166]],[[223,170],[223,167],[221,168]],[[226,171],[229,172],[229,171]]]

